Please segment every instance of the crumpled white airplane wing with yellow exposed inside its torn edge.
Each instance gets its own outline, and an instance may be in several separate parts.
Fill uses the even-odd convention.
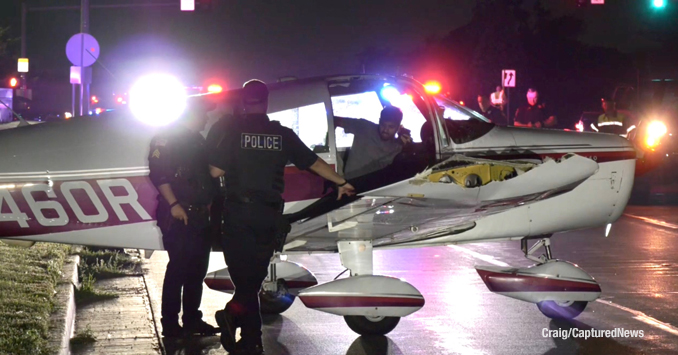
[[[478,187],[454,181],[459,170],[491,165],[513,169],[517,176]],[[597,170],[595,161],[578,155],[541,164],[454,156],[412,178],[360,193],[349,201],[328,195],[287,216],[292,230],[284,250],[332,252],[342,239],[371,240],[378,247],[460,233],[482,217],[571,191]],[[382,182],[388,179],[383,172],[380,175]]]

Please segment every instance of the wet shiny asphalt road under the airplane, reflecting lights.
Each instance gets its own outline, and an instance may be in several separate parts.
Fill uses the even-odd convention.
[[[536,305],[491,293],[475,265],[529,266],[519,242],[467,244],[376,251],[375,274],[403,278],[426,298],[418,312],[401,319],[385,337],[360,337],[342,317],[309,310],[300,300],[279,316],[264,320],[268,355],[336,354],[678,354],[678,208],[639,208],[634,215],[656,215],[658,226],[622,217],[605,237],[604,228],[564,233],[551,239],[555,258],[573,262],[603,289],[575,321],[553,321]],[[673,213],[676,212],[676,213]],[[322,282],[344,269],[336,254],[295,255]],[[146,260],[146,283],[160,331],[160,295],[165,252]],[[209,271],[225,267],[212,253]],[[205,286],[202,310],[214,312],[230,295]],[[642,337],[549,337],[549,331],[624,329]],[[553,332],[551,332],[553,334]],[[575,332],[576,333],[576,332]],[[590,333],[590,332],[589,332]],[[559,333],[561,334],[561,333]],[[168,354],[225,354],[216,337],[164,341]]]

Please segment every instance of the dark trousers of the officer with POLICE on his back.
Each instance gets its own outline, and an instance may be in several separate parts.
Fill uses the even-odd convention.
[[[276,247],[280,211],[257,203],[226,201],[222,235],[224,258],[235,294],[226,305],[246,344],[261,343],[259,291]]]

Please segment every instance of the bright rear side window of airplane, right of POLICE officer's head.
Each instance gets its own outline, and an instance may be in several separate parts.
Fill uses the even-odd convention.
[[[330,151],[327,144],[327,112],[324,103],[269,113],[268,117],[292,129],[315,153]]]

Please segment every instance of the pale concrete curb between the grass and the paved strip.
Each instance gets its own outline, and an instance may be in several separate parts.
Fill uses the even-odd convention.
[[[49,345],[55,354],[70,355],[75,330],[75,285],[78,283],[79,255],[69,255],[64,262],[63,277],[57,285],[57,309],[50,316]]]

